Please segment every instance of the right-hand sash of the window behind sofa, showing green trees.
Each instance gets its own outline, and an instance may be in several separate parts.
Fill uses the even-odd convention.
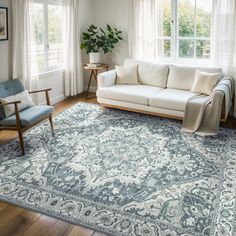
[[[178,57],[209,60],[212,2],[209,0],[177,2]]]

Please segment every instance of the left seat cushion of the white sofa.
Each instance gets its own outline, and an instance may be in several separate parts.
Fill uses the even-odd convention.
[[[115,85],[99,89],[97,97],[149,105],[149,98],[162,89],[148,85]]]

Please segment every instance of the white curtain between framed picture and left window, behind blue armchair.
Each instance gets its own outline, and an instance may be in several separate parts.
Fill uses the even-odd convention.
[[[32,2],[12,0],[13,79],[20,79],[28,90],[38,87]],[[37,102],[37,96],[34,101]]]

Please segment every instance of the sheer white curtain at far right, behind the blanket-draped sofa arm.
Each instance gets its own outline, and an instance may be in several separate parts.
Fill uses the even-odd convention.
[[[236,81],[236,1],[213,1],[212,53],[214,64]],[[236,84],[236,83],[235,83]],[[236,96],[234,97],[236,117]]]

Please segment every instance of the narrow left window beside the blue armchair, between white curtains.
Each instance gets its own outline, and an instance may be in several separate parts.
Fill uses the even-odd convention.
[[[63,66],[62,5],[58,0],[35,0],[33,26],[39,72]]]

